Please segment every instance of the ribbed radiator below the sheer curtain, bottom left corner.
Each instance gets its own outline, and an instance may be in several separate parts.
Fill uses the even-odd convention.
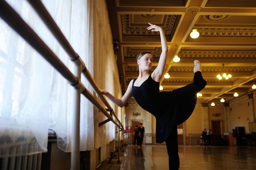
[[[0,170],[40,170],[42,153],[18,156],[1,157]]]

